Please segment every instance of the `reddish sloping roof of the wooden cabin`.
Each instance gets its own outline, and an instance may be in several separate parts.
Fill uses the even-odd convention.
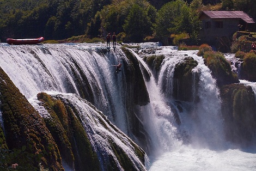
[[[209,16],[211,19],[242,19],[247,23],[255,21],[243,11],[202,11],[202,14]]]

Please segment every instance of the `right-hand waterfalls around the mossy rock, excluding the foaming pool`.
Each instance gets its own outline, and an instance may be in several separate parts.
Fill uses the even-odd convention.
[[[155,52],[155,54],[164,54],[165,58],[157,78],[158,83],[155,82],[154,78],[151,78],[150,82],[147,83],[150,104],[153,106],[151,108],[154,108],[154,112],[149,112],[154,113],[153,116],[148,117],[153,118],[153,123],[150,121],[148,123],[150,123],[150,128],[154,127],[152,125],[156,123],[157,128],[154,127],[154,130],[161,130],[158,133],[162,142],[160,141],[158,144],[164,151],[179,146],[180,138],[183,141],[191,141],[195,146],[208,148],[219,148],[223,143],[220,92],[216,87],[216,81],[211,76],[211,71],[204,65],[203,58],[196,55],[196,52],[176,51],[174,47],[162,47]],[[172,112],[172,108],[175,106],[175,100],[172,97],[173,73],[175,65],[181,63],[187,56],[193,57],[198,62],[198,66],[193,69],[193,72],[200,75],[197,93],[199,102],[180,102],[183,103],[184,109],[179,112],[181,125],[178,126],[174,121]],[[195,91],[194,88],[193,90]],[[193,92],[193,96],[196,96],[196,92]],[[189,108],[192,109],[187,109],[186,106],[190,106]],[[161,122],[157,123],[156,120],[161,120]],[[163,132],[168,132],[169,135],[164,135]],[[149,134],[152,135],[154,132]],[[157,133],[155,134],[157,135]],[[190,138],[189,140],[184,139],[186,135]]]

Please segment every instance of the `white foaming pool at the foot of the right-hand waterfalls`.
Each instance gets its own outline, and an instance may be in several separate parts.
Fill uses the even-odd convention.
[[[157,157],[149,171],[209,170],[209,171],[251,171],[256,169],[255,149],[251,152],[239,149],[215,151],[180,146],[172,152]]]

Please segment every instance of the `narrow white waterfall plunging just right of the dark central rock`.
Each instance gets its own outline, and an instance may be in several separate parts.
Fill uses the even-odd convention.
[[[136,53],[133,52],[133,54],[137,57],[139,63],[143,65],[143,68],[147,69],[151,75],[150,80],[145,82],[149,92],[150,103],[140,108],[141,113],[143,113],[144,127],[148,131],[153,143],[151,155],[159,155],[163,151],[173,149],[174,146],[180,145],[182,142],[177,138],[173,113],[170,106],[164,102],[161,90],[152,76],[153,74],[147,64]],[[144,80],[147,79],[144,78]]]

